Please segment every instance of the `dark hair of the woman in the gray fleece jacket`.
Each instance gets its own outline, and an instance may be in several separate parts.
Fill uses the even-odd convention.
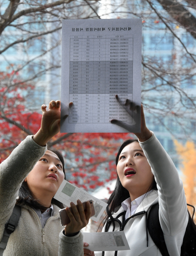
[[[60,151],[56,150],[56,148],[50,148],[48,147],[49,151],[52,151],[54,154],[56,154],[58,156],[58,158],[60,159],[61,163],[62,163],[62,167],[63,167],[63,172],[65,175],[65,163],[64,163],[64,158],[61,154]],[[53,203],[54,205],[57,205],[59,208],[63,209],[65,208],[65,206],[63,205],[63,203],[59,202],[57,199],[52,198],[51,203]],[[29,189],[27,183],[25,181],[23,181],[20,189],[19,189],[19,198],[16,199],[16,205],[28,205],[36,210],[40,209],[41,211],[45,211],[46,209],[48,209],[48,207],[45,207],[44,205],[42,205],[38,199],[36,199],[32,193],[32,191]]]

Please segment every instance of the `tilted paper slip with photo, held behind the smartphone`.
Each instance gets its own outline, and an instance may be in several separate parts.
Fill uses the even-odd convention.
[[[96,222],[99,220],[102,213],[105,211],[105,209],[107,207],[107,203],[99,200],[96,197],[93,197],[86,191],[79,189],[75,185],[73,185],[65,180],[61,183],[61,186],[57,190],[57,193],[54,195],[54,198],[68,207],[70,207],[70,202],[73,202],[76,205],[78,199],[81,202],[85,202],[90,199],[93,199],[95,215],[92,216],[91,219]]]

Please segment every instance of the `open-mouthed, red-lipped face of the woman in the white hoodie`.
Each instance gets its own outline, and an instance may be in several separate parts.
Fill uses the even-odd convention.
[[[130,192],[130,196],[134,191],[140,195],[147,192],[154,175],[137,141],[123,148],[118,159],[117,173],[122,186]]]

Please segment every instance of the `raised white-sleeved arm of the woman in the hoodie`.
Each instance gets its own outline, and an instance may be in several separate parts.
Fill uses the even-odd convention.
[[[154,133],[146,127],[143,106],[141,107],[141,132],[134,134],[138,137],[155,176],[159,194],[159,219],[163,233],[166,236],[173,236],[186,228],[188,222],[183,182],[170,156]]]

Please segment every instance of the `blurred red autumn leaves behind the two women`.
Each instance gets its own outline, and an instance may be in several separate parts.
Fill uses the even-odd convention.
[[[27,136],[23,127],[35,134],[41,124],[41,114],[25,108],[24,93],[34,87],[15,77],[17,74],[13,71],[8,74],[0,73],[0,106],[4,111],[0,112],[0,163]],[[8,86],[7,81],[11,79],[16,86]],[[5,115],[13,124],[1,115]],[[21,128],[14,122],[20,124]],[[58,133],[51,141],[64,135],[65,133]],[[119,145],[128,138],[130,133],[73,133],[54,147],[64,156],[66,179],[85,190],[94,190],[117,178],[115,156]]]

